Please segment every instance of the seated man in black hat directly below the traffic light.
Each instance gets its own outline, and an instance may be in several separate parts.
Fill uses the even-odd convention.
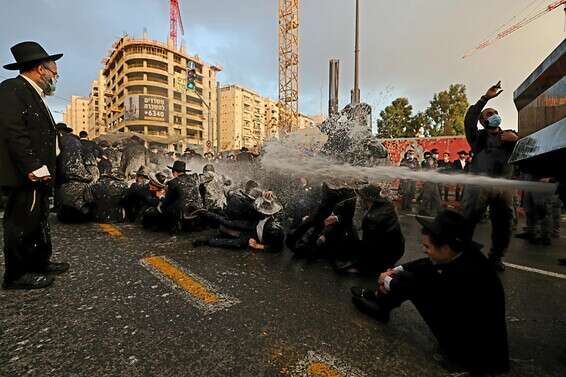
[[[173,172],[173,179],[167,182],[167,194],[161,205],[162,211],[169,217],[172,230],[187,230],[197,225],[199,213],[204,210],[199,191],[199,176],[187,174],[184,161],[175,161],[168,166]]]

